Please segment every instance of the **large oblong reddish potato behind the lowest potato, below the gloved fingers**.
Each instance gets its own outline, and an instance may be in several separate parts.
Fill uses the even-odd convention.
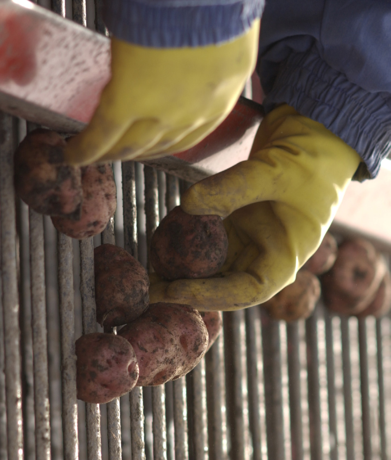
[[[138,386],[161,385],[187,374],[201,361],[208,331],[189,305],[157,303],[118,334],[129,340],[138,360]]]

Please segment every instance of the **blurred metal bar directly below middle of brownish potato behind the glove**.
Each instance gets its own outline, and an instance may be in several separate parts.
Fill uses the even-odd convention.
[[[289,414],[292,460],[303,458],[303,420],[300,391],[299,326],[287,323]]]

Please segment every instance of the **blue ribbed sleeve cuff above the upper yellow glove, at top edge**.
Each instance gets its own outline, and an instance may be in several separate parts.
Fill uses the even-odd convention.
[[[105,0],[104,21],[141,46],[205,46],[246,32],[265,0]]]

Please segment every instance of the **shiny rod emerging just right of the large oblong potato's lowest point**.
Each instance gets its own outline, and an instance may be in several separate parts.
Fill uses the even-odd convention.
[[[173,381],[175,460],[188,460],[186,380],[180,377]]]

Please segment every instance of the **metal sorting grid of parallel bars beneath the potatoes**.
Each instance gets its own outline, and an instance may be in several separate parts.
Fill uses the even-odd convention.
[[[63,16],[69,5],[88,25],[90,3],[52,1]],[[75,339],[102,331],[93,248],[115,243],[148,267],[151,234],[189,184],[114,163],[115,218],[71,240],[14,196],[13,151],[32,128],[0,113],[0,460],[391,458],[390,316],[339,318],[319,304],[287,325],[259,307],[225,312],[223,334],[185,377],[78,401]]]

